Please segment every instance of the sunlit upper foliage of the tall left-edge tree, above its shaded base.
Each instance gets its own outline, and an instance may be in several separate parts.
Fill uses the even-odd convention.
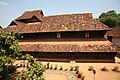
[[[0,31],[0,62],[1,65],[10,64],[19,55],[16,32],[6,33]]]

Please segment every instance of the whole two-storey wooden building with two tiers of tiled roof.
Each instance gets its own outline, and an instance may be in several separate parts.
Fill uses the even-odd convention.
[[[104,38],[111,29],[92,13],[44,16],[26,11],[6,28],[21,34],[19,49],[43,61],[114,62],[118,48]]]

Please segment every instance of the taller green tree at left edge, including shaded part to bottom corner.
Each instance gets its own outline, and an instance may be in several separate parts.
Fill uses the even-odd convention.
[[[19,55],[17,39],[19,34],[16,32],[6,33],[0,30],[0,76],[2,80],[7,79],[9,67]]]

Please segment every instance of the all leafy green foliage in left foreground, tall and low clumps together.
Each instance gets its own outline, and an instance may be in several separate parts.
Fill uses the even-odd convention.
[[[21,57],[24,60],[28,60],[27,71],[23,71],[18,76],[16,80],[45,80],[43,77],[43,72],[45,68],[36,58],[29,54],[22,54],[18,50],[18,39],[20,38],[19,33],[11,32],[7,33],[0,30],[0,79],[7,79],[8,74],[13,72],[12,63],[17,57]],[[17,65],[15,65],[17,68]]]

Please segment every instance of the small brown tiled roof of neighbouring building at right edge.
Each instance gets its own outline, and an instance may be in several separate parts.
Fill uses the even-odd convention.
[[[120,27],[113,27],[112,31],[106,33],[107,36],[120,37]]]

